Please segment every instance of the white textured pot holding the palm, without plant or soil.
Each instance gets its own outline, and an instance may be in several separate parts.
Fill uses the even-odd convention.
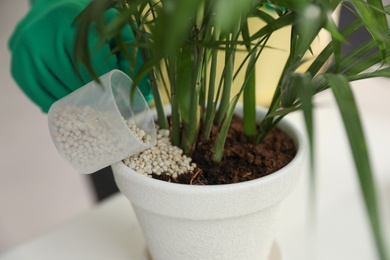
[[[237,107],[242,114],[242,106]],[[258,108],[258,119],[265,110]],[[120,191],[130,200],[153,260],[266,260],[275,238],[282,200],[302,171],[306,141],[286,120],[279,127],[298,151],[279,171],[237,184],[191,186],[155,180],[124,163],[112,165]]]

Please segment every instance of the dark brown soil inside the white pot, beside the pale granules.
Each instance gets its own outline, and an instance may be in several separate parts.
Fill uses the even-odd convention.
[[[287,165],[295,156],[296,148],[291,138],[275,128],[264,143],[249,143],[243,132],[242,119],[234,116],[226,140],[221,163],[212,161],[213,141],[217,129],[213,129],[208,143],[198,143],[191,155],[197,164],[194,172],[182,174],[177,180],[167,175],[153,176],[169,182],[193,185],[216,185],[244,182],[271,174]]]

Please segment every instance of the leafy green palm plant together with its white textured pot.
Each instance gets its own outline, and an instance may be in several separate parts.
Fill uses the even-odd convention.
[[[314,95],[331,89],[350,140],[378,256],[387,259],[372,170],[349,82],[390,76],[390,69],[385,66],[390,61],[386,20],[390,8],[380,0],[348,2],[357,20],[342,31],[331,14],[343,1],[100,0],[92,1],[76,19],[79,32],[75,56],[95,79],[98,75],[91,66],[91,50],[86,44],[91,24],[96,26],[102,41],[116,46],[113,55],[129,59],[133,68],[137,55],[142,55],[143,65],[128,73],[135,85],[148,77],[158,125],[170,130],[172,144],[187,156],[194,157],[199,150],[211,151],[206,156],[208,165],[224,164],[221,162],[230,153],[226,151],[226,140],[232,131],[235,111],[243,118],[242,142],[251,143],[252,148],[261,145],[279,126],[298,149],[291,163],[271,175],[206,187],[162,182],[136,173],[123,162],[113,165],[118,186],[133,203],[153,258],[266,259],[273,236],[272,229],[265,227],[275,225],[279,202],[298,178],[291,168],[300,165],[304,157],[304,139],[283,118],[293,111],[303,111],[313,165],[311,101]],[[265,7],[272,8],[273,15]],[[116,8],[118,15],[106,21],[103,14],[110,8]],[[249,27],[257,23],[262,25],[254,30]],[[273,48],[267,44],[270,37],[286,27],[288,58],[269,108],[262,112],[255,107],[255,91],[261,87],[256,83],[256,63],[262,60],[264,50]],[[341,43],[361,27],[372,38],[342,56]],[[132,29],[135,41],[124,40],[123,33],[128,28]],[[311,44],[323,29],[330,33],[331,41],[307,65]],[[372,54],[363,56],[367,52]],[[242,53],[244,58],[239,60],[238,54]],[[222,60],[218,57],[221,55]],[[367,71],[378,63],[383,66]],[[236,80],[239,74],[244,75],[242,82]],[[239,85],[237,93],[232,93],[233,85]],[[166,92],[171,105],[169,119],[161,92]],[[242,106],[237,105],[241,97]],[[197,179],[202,183],[201,175],[191,168],[190,182]],[[168,179],[174,182],[178,178]],[[235,177],[231,182],[236,182]],[[244,226],[242,219],[248,225]]]

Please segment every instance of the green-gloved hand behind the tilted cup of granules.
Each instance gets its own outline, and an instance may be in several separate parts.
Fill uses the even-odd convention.
[[[77,26],[72,26],[72,22],[88,3],[89,0],[35,0],[10,38],[11,73],[25,94],[44,112],[56,100],[92,80],[83,66],[79,66],[81,79],[73,69]],[[115,12],[114,9],[108,10],[108,19]],[[92,64],[98,75],[112,69],[129,74],[129,61],[123,55],[110,54],[113,48],[110,43],[96,50],[98,34],[94,29],[89,33]],[[134,40],[130,26],[124,29],[123,39],[127,42]],[[137,64],[142,64],[140,54]],[[148,79],[145,78],[138,87],[145,99],[151,101]]]

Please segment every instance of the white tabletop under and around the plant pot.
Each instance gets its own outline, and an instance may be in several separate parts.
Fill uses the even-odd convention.
[[[390,248],[390,80],[353,83],[378,184]],[[330,92],[316,98],[317,233],[307,234],[306,170],[286,199],[277,233],[284,260],[376,259],[346,135]],[[304,131],[299,113],[289,116]],[[16,247],[0,260],[146,259],[145,242],[130,203],[115,195],[84,215]]]

